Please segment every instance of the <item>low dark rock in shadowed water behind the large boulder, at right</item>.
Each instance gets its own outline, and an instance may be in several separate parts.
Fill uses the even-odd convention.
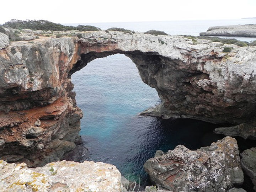
[[[247,123],[241,123],[232,127],[219,127],[214,129],[214,133],[231,137],[239,136],[244,139],[256,140],[256,126]]]

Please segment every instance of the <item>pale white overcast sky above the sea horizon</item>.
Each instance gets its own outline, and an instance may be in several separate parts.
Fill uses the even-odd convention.
[[[256,17],[256,0],[2,0],[0,24],[11,19],[90,23],[242,17]]]

